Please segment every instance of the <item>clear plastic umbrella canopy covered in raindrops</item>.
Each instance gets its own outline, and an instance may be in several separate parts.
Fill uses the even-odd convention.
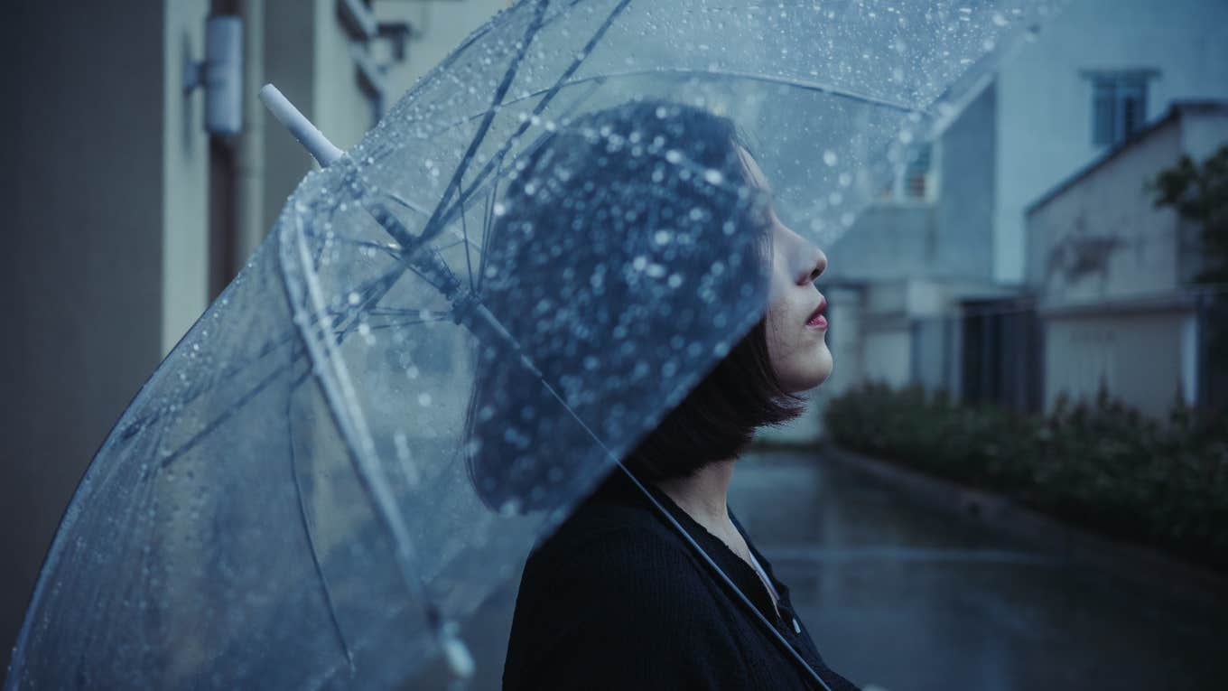
[[[763,315],[766,204],[837,237],[1052,6],[503,11],[303,180],[138,395],[6,687],[463,675],[465,616]]]

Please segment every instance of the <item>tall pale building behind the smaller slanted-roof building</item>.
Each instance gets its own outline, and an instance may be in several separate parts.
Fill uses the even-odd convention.
[[[1207,98],[1228,98],[1228,5],[1065,5],[825,247],[835,370],[812,413],[779,436],[820,434],[823,401],[867,380],[1039,409],[1028,204],[1170,102]]]

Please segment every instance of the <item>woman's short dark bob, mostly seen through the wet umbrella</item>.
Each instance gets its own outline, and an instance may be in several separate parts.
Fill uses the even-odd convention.
[[[652,146],[653,141],[659,148],[659,143],[667,140],[675,148],[669,154],[680,150],[677,156],[684,155],[701,166],[699,170],[732,184],[716,192],[712,186],[695,181],[672,187],[653,184],[652,156],[643,155],[643,148]],[[619,144],[612,145],[612,141]],[[688,216],[715,224],[717,234],[722,229],[727,235],[734,230],[745,234],[739,242],[754,255],[748,257],[753,261],[745,262],[753,266],[743,266],[737,272],[738,279],[755,283],[756,294],[766,295],[771,226],[766,221],[765,195],[753,193],[742,148],[743,139],[728,118],[666,101],[632,101],[576,118],[529,148],[530,152],[516,166],[501,213],[485,239],[479,272],[490,278],[484,282],[480,296],[510,334],[526,347],[538,373],[551,386],[566,393],[567,382],[558,380],[573,373],[569,368],[575,368],[578,358],[592,354],[577,353],[577,348],[598,353],[598,348],[612,347],[613,342],[589,339],[577,347],[572,333],[549,330],[543,333],[542,321],[549,316],[532,315],[528,307],[542,296],[566,299],[567,289],[556,288],[560,295],[555,295],[526,286],[564,285],[575,282],[576,273],[586,277],[587,284],[587,277],[605,263],[631,264],[632,258],[640,261],[641,255],[651,253],[653,234],[685,224]],[[663,151],[657,155],[661,154]],[[737,193],[731,193],[731,187]],[[631,213],[635,209],[645,211]],[[607,240],[602,247],[576,245],[577,232],[588,232],[586,229],[593,225],[616,227],[623,235],[616,239],[619,241]],[[605,235],[610,232],[615,231]],[[556,256],[565,242],[572,243],[566,261],[551,259],[551,253]],[[727,243],[705,245],[691,245],[685,261],[706,267],[731,258],[721,255],[729,251]],[[668,261],[668,256],[663,261]],[[562,272],[571,272],[571,275],[565,277]],[[736,298],[732,293],[736,284],[732,277],[726,278],[717,290]],[[747,294],[744,288],[742,293]],[[602,306],[618,305],[620,300],[632,304],[641,298],[628,290],[631,289],[621,283],[608,285]],[[647,318],[670,317],[650,315]],[[651,333],[653,325],[643,328]],[[545,429],[551,424],[543,419],[548,416],[530,409],[526,418],[518,409],[526,407],[527,400],[523,393],[517,397],[517,392],[542,390],[542,384],[535,381],[538,373],[507,363],[506,353],[496,348],[488,347],[480,353],[465,423],[470,480],[479,497],[491,508],[502,509],[510,500],[519,509],[548,505],[540,491],[543,478],[549,476],[558,481],[575,470],[562,467],[569,459],[555,457],[571,451],[561,440],[554,444],[558,448],[551,446],[551,438],[561,435],[558,424]],[[540,401],[542,397],[528,400]],[[679,393],[675,400],[679,402],[670,412],[621,459],[637,477],[650,481],[680,477],[712,461],[729,459],[745,446],[756,428],[796,417],[802,403],[783,391],[772,370],[763,318],[728,348],[689,393]],[[602,401],[569,405],[581,418],[609,414],[603,411]],[[635,434],[641,434],[642,429]],[[527,443],[527,438],[533,443]]]

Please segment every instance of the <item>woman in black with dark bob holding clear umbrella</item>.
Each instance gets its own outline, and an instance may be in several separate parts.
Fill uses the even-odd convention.
[[[825,301],[814,288],[826,258],[776,216],[763,171],[732,123],[662,102],[634,102],[569,123],[566,134],[538,143],[500,211],[484,253],[484,275],[491,278],[483,300],[506,317],[533,365],[496,366],[500,354],[488,350],[486,366],[478,370],[486,374],[470,407],[469,462],[484,500],[505,510],[549,507],[550,483],[566,483],[567,464],[581,462],[569,454],[580,448],[576,434],[600,424],[598,436],[616,439],[609,421],[626,414],[616,405],[620,396],[637,381],[642,391],[651,385],[634,375],[614,377],[608,390],[585,396],[567,389],[578,363],[619,357],[628,349],[619,339],[634,342],[628,328],[641,330],[641,342],[659,333],[682,349],[679,334],[704,326],[685,322],[702,320],[702,310],[696,316],[685,302],[672,304],[674,293],[655,291],[657,284],[641,280],[640,269],[664,267],[658,273],[662,280],[669,274],[669,285],[698,283],[713,305],[769,300],[765,316],[621,462],[823,685],[853,689],[824,665],[788,588],[726,505],[737,455],[755,429],[796,417],[798,395],[831,370]],[[690,234],[679,230],[685,227]],[[598,279],[609,267],[615,278]],[[598,290],[587,289],[597,284]],[[554,320],[576,305],[589,311],[593,328],[571,317]],[[639,316],[615,322],[612,314]],[[561,321],[572,326],[553,326]],[[610,371],[632,369],[642,361],[636,357]],[[517,392],[537,379],[561,382],[558,398],[576,421],[588,421],[575,424],[585,429],[569,432],[558,416],[523,403]],[[503,687],[823,687],[780,637],[765,631],[643,493],[614,471],[529,557]]]

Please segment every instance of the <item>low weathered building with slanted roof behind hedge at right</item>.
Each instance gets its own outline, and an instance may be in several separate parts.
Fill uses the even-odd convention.
[[[1228,146],[1228,101],[1168,113],[1027,209],[1027,277],[1044,327],[1044,400],[1113,397],[1163,416],[1211,405],[1201,229],[1141,193],[1159,170]]]

